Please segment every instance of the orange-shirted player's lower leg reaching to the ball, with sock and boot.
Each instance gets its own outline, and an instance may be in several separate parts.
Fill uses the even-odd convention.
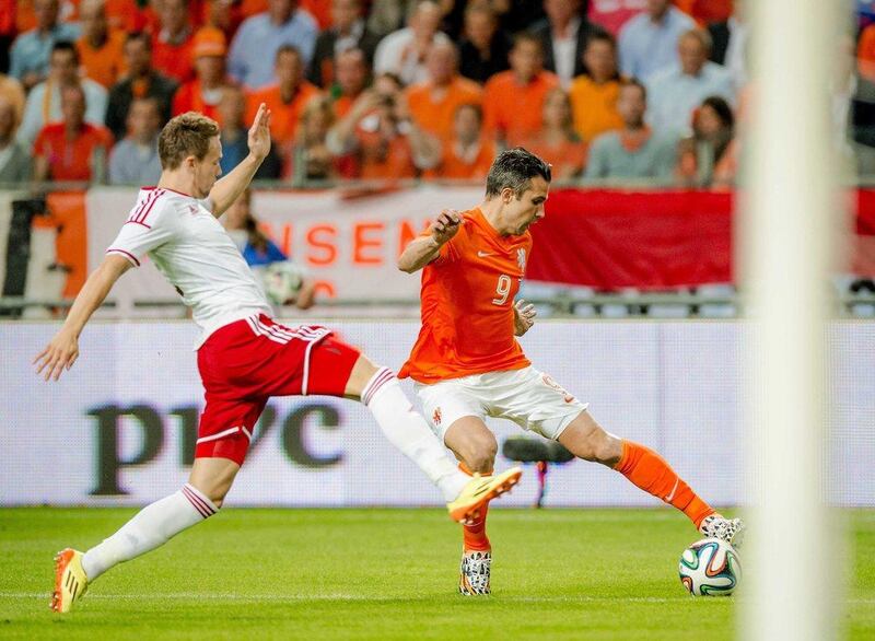
[[[645,492],[674,505],[705,536],[740,544],[744,524],[739,518],[718,514],[656,452],[610,434],[588,411],[582,411],[569,423],[559,442],[579,458],[616,469]]]

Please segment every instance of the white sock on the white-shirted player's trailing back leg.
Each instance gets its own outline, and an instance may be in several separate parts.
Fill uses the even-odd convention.
[[[212,501],[186,483],[170,497],[143,508],[121,529],[86,551],[82,569],[89,581],[94,581],[113,566],[164,545],[218,511]]]

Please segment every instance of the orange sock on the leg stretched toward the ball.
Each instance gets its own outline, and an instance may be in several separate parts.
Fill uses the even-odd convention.
[[[622,442],[622,455],[614,467],[635,486],[684,512],[696,528],[714,510],[702,501],[677,473],[650,447]]]

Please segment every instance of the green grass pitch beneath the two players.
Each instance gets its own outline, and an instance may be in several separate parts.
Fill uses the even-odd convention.
[[[131,514],[0,510],[0,639],[734,636],[735,598],[684,592],[677,560],[697,537],[670,510],[495,509],[493,594],[466,598],[460,534],[442,511],[228,509],[101,578],[71,615],[50,613],[54,552],[94,545]],[[848,515],[842,631],[873,639],[875,511]]]

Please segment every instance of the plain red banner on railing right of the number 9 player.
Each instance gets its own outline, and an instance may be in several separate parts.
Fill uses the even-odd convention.
[[[532,228],[528,278],[600,290],[733,282],[733,195],[557,190]],[[847,270],[875,275],[875,190],[858,191]]]

